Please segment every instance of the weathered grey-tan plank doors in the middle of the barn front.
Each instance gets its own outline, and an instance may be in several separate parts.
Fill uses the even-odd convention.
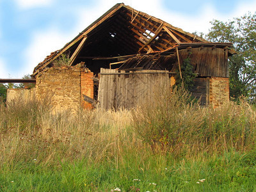
[[[170,88],[168,71],[141,70],[125,74],[122,70],[101,68],[99,108],[136,108],[152,100],[164,88]]]

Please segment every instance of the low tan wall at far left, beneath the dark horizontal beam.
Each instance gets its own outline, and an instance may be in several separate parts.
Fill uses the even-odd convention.
[[[23,89],[23,88],[15,88],[7,90],[7,98],[6,103],[11,103],[13,100],[19,102],[29,102],[30,100],[35,99],[35,88],[31,89]]]

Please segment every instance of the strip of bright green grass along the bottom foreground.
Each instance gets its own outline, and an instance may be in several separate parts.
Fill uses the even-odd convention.
[[[56,168],[33,161],[15,164],[12,168],[2,166],[0,186],[2,191],[111,191],[117,187],[122,191],[256,190],[256,167],[251,164],[255,154],[230,152],[218,157],[179,161],[154,155],[143,162],[139,156],[132,157],[120,164],[115,161],[94,164],[79,159]]]

